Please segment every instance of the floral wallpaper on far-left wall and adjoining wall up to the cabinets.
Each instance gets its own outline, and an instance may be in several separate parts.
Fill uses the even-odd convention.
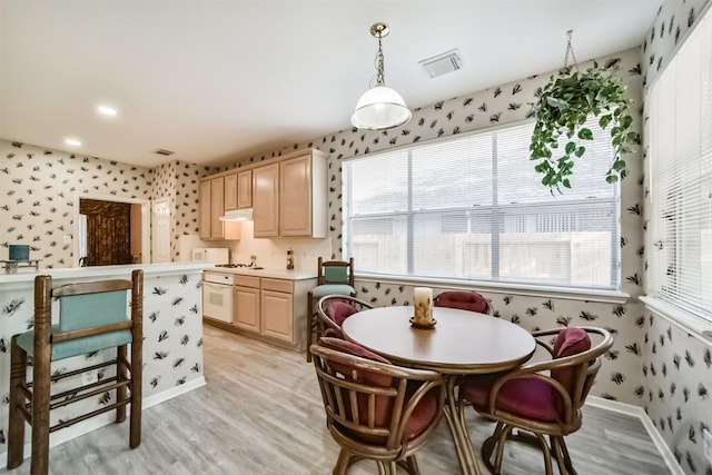
[[[76,194],[170,198],[171,258],[178,261],[178,236],[198,234],[198,181],[216,171],[180,161],[145,168],[0,140],[0,247],[29,244],[41,267],[72,267],[73,244],[63,236],[75,234]]]

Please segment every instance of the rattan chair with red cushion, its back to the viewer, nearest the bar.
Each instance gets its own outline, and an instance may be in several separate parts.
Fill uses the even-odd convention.
[[[417,474],[415,453],[443,415],[445,385],[435,372],[404,368],[354,343],[322,337],[309,347],[326,422],[342,447],[333,473],[346,474],[360,459],[378,473],[400,464]]]

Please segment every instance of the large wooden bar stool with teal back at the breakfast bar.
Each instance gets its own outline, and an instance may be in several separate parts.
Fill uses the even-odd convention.
[[[130,304],[128,293],[130,291]],[[59,299],[59,324],[52,325],[52,299]],[[128,308],[130,305],[130,318]],[[105,280],[69,284],[52,288],[50,276],[34,278],[34,328],[14,335],[11,343],[10,418],[8,431],[8,469],[24,458],[24,422],[32,427],[32,475],[49,468],[49,434],[89,417],[116,409],[116,422],[126,419],[131,405],[130,442],[141,443],[141,372],[142,372],[144,271],[131,274],[131,280]],[[127,346],[131,345],[131,359]],[[51,363],[106,348],[117,348],[109,362],[80,369],[52,374]],[[28,356],[32,380],[27,380]],[[60,379],[82,378],[82,373],[116,366],[116,376],[51,394],[50,385]],[[71,380],[71,379],[70,379]],[[116,389],[113,404],[83,413],[50,426],[50,410]]]

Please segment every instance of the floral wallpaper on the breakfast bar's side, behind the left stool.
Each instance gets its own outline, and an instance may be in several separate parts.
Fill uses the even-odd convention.
[[[130,279],[130,275],[119,278]],[[57,285],[58,281],[55,281]],[[192,270],[186,274],[144,276],[144,397],[184,385],[202,377],[202,305],[201,273]],[[4,284],[0,287],[0,455],[7,452],[8,403],[10,374],[10,339],[12,335],[32,327],[32,281],[24,286]],[[58,311],[57,307],[52,309]],[[52,372],[70,372],[79,367],[106,362],[116,356],[113,349],[61,359],[52,364]],[[113,368],[103,368],[99,373],[69,377],[55,385],[52,392],[61,392],[81,384],[78,378],[90,379],[110,377]],[[51,413],[55,424],[60,418],[93,410],[110,404],[115,392],[105,392],[85,402],[58,408]],[[107,420],[111,420],[108,413]],[[127,423],[128,424],[128,423]],[[30,431],[26,429],[29,442]],[[127,442],[128,444],[128,442]]]

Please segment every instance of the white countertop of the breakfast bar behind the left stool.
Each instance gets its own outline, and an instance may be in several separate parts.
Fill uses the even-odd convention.
[[[211,263],[166,263],[166,264],[131,264],[126,266],[89,266],[65,267],[58,269],[39,269],[38,271],[21,270],[17,274],[0,274],[0,284],[32,281],[36,276],[49,275],[53,279],[76,279],[87,277],[130,276],[134,269],[144,269],[149,274],[177,274],[200,271],[215,266]]]

